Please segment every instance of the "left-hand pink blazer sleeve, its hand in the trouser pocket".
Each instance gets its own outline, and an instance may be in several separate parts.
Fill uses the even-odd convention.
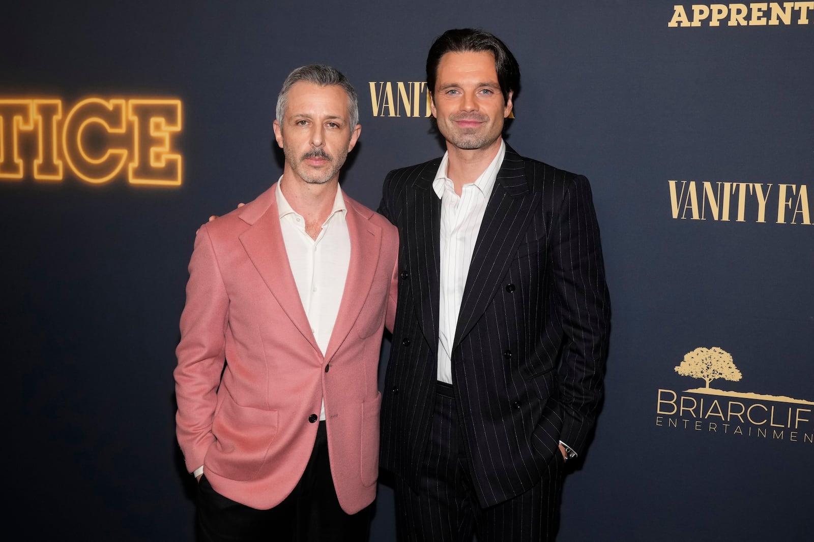
[[[195,236],[189,271],[174,376],[178,444],[187,470],[193,472],[204,464],[209,445],[215,440],[212,418],[225,361],[229,314],[229,297],[206,225]]]

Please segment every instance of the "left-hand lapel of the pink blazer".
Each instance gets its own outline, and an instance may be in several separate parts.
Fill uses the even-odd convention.
[[[282,310],[313,348],[322,355],[300,300],[294,275],[291,273],[291,265],[288,263],[274,190],[274,186],[269,189],[270,204],[265,212],[258,210],[258,207],[252,206],[252,204],[246,206],[247,209],[241,214],[241,219],[246,220],[250,227],[240,234],[239,239],[249,259],[252,260],[254,267],[277,299]],[[260,203],[258,200],[256,202]]]

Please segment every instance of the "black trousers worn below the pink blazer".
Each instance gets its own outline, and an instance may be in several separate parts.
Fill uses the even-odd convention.
[[[330,476],[325,422],[300,482],[272,509],[258,510],[227,499],[201,477],[198,484],[199,542],[364,542],[372,506],[357,514],[339,507]]]

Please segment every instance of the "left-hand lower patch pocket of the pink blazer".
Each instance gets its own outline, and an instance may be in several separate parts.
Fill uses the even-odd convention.
[[[225,392],[223,404],[212,421],[216,440],[204,464],[228,479],[254,479],[277,436],[278,411],[238,405],[229,392]]]

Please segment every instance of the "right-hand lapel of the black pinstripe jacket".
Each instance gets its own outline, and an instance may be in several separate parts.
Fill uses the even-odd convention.
[[[529,190],[527,175],[523,158],[507,146],[475,241],[453,349],[484,314],[523,240],[539,198],[539,193]]]

